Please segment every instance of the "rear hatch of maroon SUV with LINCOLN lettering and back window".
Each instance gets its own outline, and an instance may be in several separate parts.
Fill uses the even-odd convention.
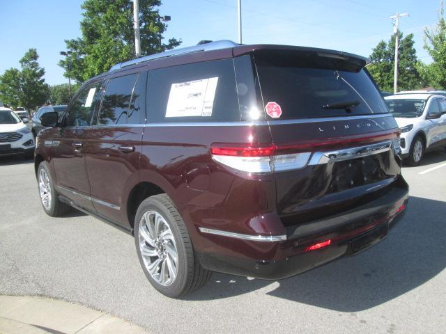
[[[392,186],[399,129],[364,58],[258,49],[254,61],[276,154],[294,161],[275,170],[284,225],[339,214]]]

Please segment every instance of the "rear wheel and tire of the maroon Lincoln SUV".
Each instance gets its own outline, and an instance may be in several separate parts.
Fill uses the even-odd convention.
[[[158,233],[155,225],[159,226]],[[164,193],[146,198],[139,205],[134,242],[146,277],[164,296],[179,298],[210,279],[212,272],[199,264],[183,218]]]

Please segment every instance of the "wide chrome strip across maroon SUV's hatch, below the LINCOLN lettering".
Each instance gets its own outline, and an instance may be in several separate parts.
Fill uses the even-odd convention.
[[[314,166],[328,164],[329,162],[368,157],[369,155],[387,152],[391,148],[392,141],[381,141],[380,143],[374,143],[371,145],[364,145],[355,148],[346,148],[344,150],[314,152],[308,164]]]

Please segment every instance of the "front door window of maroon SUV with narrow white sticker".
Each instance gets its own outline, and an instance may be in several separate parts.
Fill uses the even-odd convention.
[[[86,86],[76,99],[68,106],[66,127],[82,127],[90,125],[91,114],[100,93],[100,82]]]

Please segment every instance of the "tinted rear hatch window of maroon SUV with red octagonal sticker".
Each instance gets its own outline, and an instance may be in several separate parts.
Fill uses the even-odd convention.
[[[313,55],[316,58],[316,54]],[[312,56],[259,54],[256,67],[263,102],[275,102],[275,118],[318,118],[388,113],[380,92],[360,67]],[[270,116],[267,116],[270,118]]]

